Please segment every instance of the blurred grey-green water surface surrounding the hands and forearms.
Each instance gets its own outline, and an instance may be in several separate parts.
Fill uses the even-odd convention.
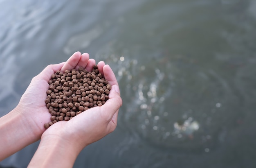
[[[255,0],[0,0],[0,20],[0,116],[73,52],[115,72],[117,129],[74,168],[256,167]]]

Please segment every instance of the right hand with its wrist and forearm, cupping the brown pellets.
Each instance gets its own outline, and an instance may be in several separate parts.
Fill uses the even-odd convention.
[[[70,57],[61,68],[61,71],[78,69],[80,66],[91,71],[92,66],[95,65],[94,59],[88,60],[86,57],[85,61],[82,61],[83,63],[80,64],[81,62],[75,61],[74,58],[74,56]],[[93,107],[69,121],[58,121],[49,127],[43,133],[38,149],[28,167],[35,167],[37,165],[42,167],[72,167],[76,157],[85,146],[115,130],[117,127],[118,111],[122,105],[119,86],[115,74],[109,65],[105,65],[101,61],[97,66],[99,72],[112,85],[108,95],[109,99],[101,107]],[[53,71],[58,69],[56,68]],[[49,74],[52,74],[53,71],[47,73],[46,81],[49,80]],[[47,86],[49,87],[49,85]],[[46,98],[46,95],[43,98]],[[44,108],[43,106],[45,107],[44,103],[42,103],[42,108]],[[48,115],[48,119],[44,119],[44,123],[49,121]],[[40,127],[43,127],[43,124]]]

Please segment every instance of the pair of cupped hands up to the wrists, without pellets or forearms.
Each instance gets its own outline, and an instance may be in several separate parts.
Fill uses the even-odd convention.
[[[65,71],[83,67],[88,71],[95,65],[94,59],[89,59],[89,55],[75,52],[66,62],[48,65],[40,74],[35,76],[25,93],[22,95],[16,111],[25,120],[28,129],[35,140],[61,139],[70,144],[79,146],[81,150],[107,134],[117,127],[117,115],[122,105],[119,86],[114,72],[109,65],[103,61],[97,64],[99,72],[112,85],[109,99],[101,107],[94,107],[79,114],[69,121],[59,121],[47,130],[44,124],[50,121],[50,113],[45,105],[46,91],[49,88],[48,81],[51,75],[57,70]],[[49,142],[51,143],[51,142]],[[78,147],[78,148],[79,148]]]

